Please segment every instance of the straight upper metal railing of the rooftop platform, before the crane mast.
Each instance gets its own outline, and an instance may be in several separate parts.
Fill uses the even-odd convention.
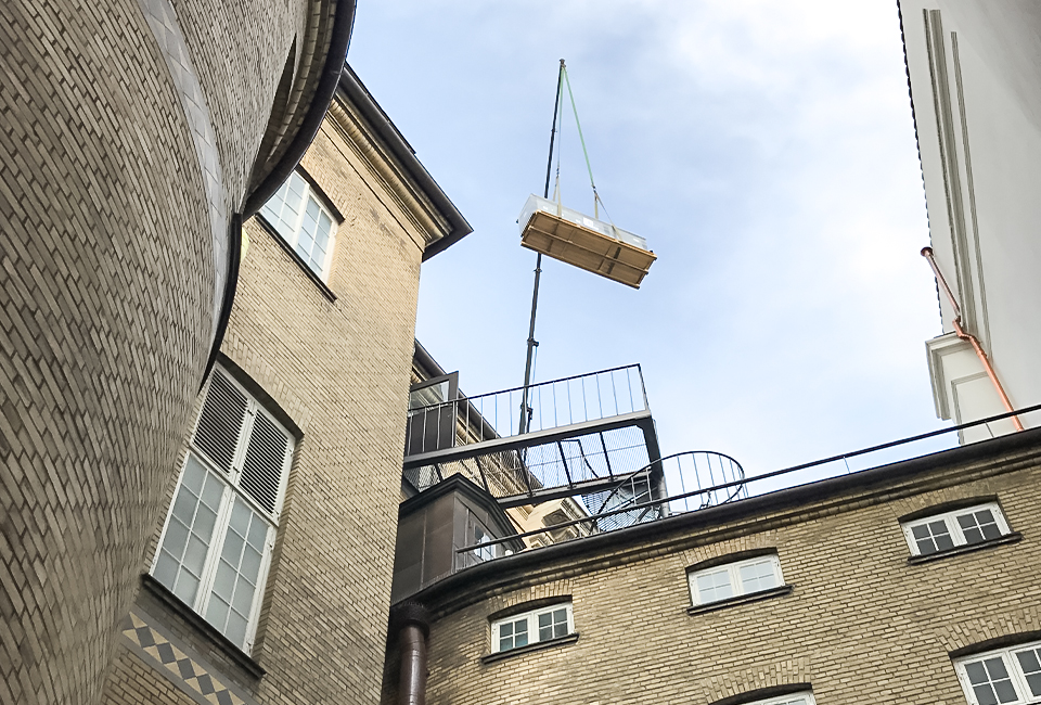
[[[452,448],[460,436],[481,443],[648,412],[639,364],[529,385],[523,412],[524,398],[514,387],[410,410],[406,458]]]

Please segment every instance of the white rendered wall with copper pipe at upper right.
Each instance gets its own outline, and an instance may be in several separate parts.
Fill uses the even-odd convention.
[[[1041,2],[901,0],[931,246],[1012,403],[1041,402]],[[923,261],[923,267],[925,267]],[[953,312],[940,302],[943,330]],[[937,414],[1004,411],[953,335],[926,344]],[[1021,419],[1041,425],[1041,414]],[[969,443],[1012,424],[965,432]]]

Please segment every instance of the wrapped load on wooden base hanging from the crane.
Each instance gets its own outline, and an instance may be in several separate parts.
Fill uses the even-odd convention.
[[[657,259],[640,235],[534,194],[518,222],[520,244],[528,249],[633,289]]]

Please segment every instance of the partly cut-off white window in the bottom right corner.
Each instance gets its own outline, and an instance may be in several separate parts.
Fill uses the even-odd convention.
[[[1041,703],[1041,642],[966,656],[954,670],[972,705]]]

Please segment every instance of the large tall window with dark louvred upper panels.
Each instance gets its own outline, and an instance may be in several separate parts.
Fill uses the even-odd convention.
[[[246,652],[292,457],[288,432],[215,369],[152,576]]]

